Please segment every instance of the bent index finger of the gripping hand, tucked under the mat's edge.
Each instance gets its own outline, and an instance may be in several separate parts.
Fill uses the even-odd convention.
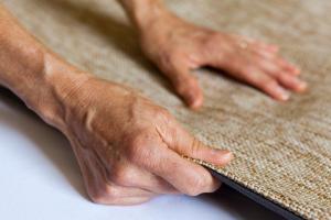
[[[182,194],[196,196],[215,191],[220,187],[220,182],[210,172],[183,158],[167,145],[163,145],[163,147],[160,147],[160,145],[158,147],[151,146],[150,148],[151,151],[152,148],[158,151],[152,153],[152,160],[140,161],[141,166],[161,176]]]

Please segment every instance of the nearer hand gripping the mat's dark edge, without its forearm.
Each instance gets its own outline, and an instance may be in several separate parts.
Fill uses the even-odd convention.
[[[132,205],[160,194],[195,196],[218,188],[205,168],[181,155],[224,166],[232,154],[191,136],[163,108],[94,77],[65,97],[63,132],[95,202]]]

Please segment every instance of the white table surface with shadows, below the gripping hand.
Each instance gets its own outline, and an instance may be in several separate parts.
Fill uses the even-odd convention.
[[[87,200],[66,139],[0,88],[0,219],[281,219],[228,188],[199,197],[161,196],[131,207]]]

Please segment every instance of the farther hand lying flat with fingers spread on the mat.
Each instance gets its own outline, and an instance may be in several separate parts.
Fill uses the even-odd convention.
[[[277,100],[307,87],[298,78],[300,70],[279,57],[277,46],[200,28],[167,11],[141,30],[141,46],[191,108],[202,105],[203,95],[190,70],[202,66],[226,70]]]

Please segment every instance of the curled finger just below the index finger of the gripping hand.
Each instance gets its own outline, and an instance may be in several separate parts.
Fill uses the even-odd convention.
[[[139,167],[126,164],[111,168],[109,180],[126,187],[140,188],[154,194],[179,194],[179,191],[163,178]]]

